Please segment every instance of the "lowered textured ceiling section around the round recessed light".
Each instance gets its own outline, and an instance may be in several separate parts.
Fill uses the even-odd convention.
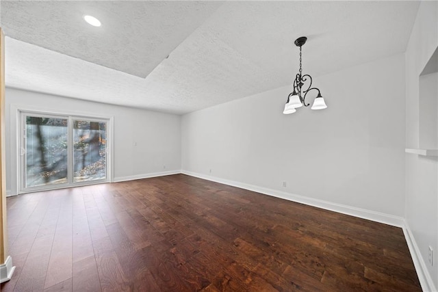
[[[220,3],[4,1],[6,34],[39,47],[146,77]],[[103,25],[92,27],[84,15]]]

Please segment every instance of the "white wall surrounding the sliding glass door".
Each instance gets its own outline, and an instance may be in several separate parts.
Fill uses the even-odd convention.
[[[16,107],[114,117],[114,181],[181,169],[181,116],[12,88],[6,88],[5,103],[8,195],[17,194]]]

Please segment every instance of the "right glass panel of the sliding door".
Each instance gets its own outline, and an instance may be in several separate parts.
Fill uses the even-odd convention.
[[[73,183],[107,178],[107,123],[73,120]]]

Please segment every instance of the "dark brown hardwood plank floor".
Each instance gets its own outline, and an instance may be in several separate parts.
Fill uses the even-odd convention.
[[[402,229],[177,174],[8,198],[1,291],[421,291]]]

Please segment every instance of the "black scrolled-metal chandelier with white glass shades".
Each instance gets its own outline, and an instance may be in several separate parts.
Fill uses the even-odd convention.
[[[316,92],[318,92],[318,95],[313,101],[313,105],[311,106],[311,109],[326,109],[327,107],[324,98],[321,95],[320,90],[318,88],[311,87],[312,77],[308,74],[302,75],[301,50],[302,50],[302,45],[306,43],[306,40],[307,38],[305,36],[302,36],[301,38],[297,38],[295,40],[296,47],[300,47],[300,71],[296,75],[294,80],[294,90],[292,91],[291,94],[289,94],[289,96],[287,96],[287,102],[283,114],[292,114],[296,111],[296,108],[302,107],[303,105],[305,107],[308,107],[310,104],[306,103],[306,96],[312,90],[316,90]],[[305,83],[309,83],[309,85],[305,85]]]

